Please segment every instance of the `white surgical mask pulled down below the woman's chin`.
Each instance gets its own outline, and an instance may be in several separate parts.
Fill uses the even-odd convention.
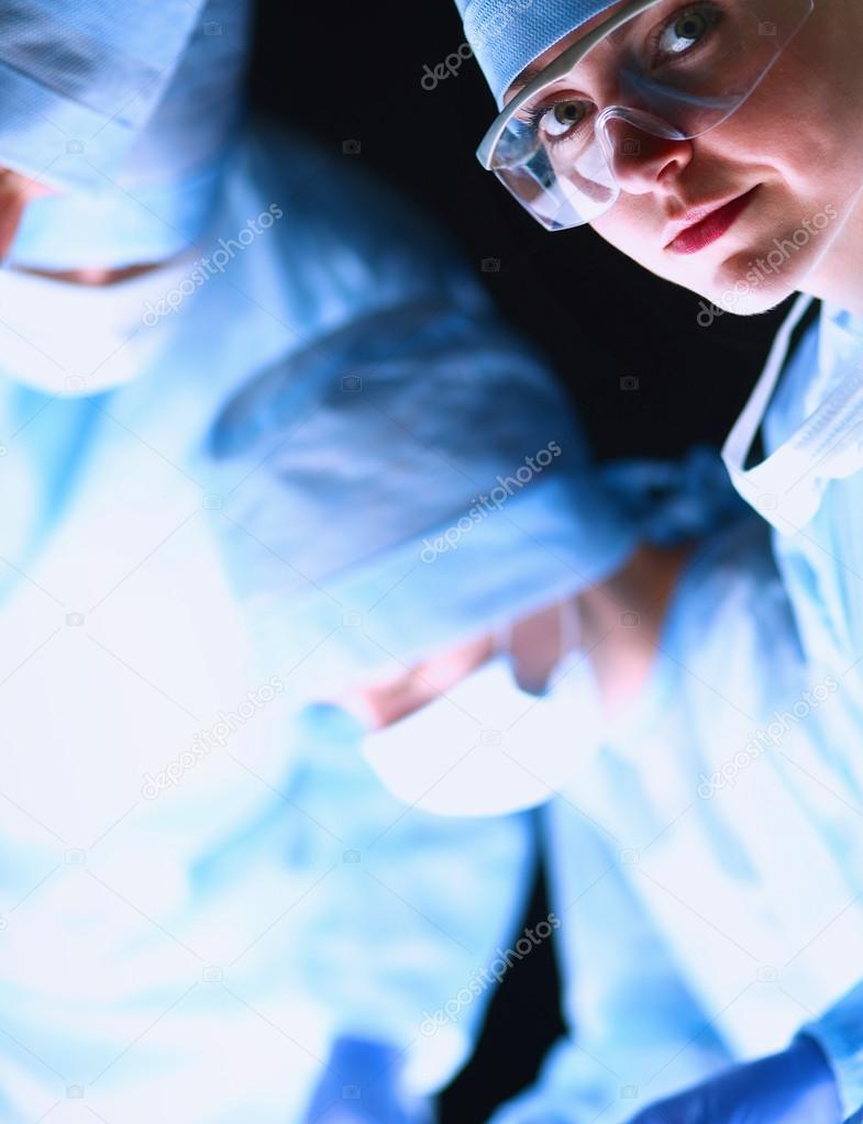
[[[804,527],[830,480],[863,469],[863,339],[835,320],[820,321],[818,379],[810,413],[761,464],[745,469],[788,356],[791,335],[811,298],[798,299],[782,325],[764,372],[722,448],[735,488],[782,534]]]

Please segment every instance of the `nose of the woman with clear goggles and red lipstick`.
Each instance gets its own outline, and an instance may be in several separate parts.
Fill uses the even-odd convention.
[[[628,117],[605,116],[597,129],[615,182],[622,191],[644,196],[669,176],[680,175],[692,160],[692,142],[671,126],[650,123],[648,129]]]

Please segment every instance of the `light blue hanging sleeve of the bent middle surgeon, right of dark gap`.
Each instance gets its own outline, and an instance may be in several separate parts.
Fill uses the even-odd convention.
[[[565,799],[542,815],[569,1034],[492,1124],[622,1124],[730,1055],[600,830]]]

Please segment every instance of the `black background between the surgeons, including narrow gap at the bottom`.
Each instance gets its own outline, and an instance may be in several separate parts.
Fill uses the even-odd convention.
[[[631,265],[591,230],[545,232],[476,162],[495,114],[476,63],[422,88],[424,66],[464,42],[452,0],[341,8],[259,0],[253,103],[304,127],[345,171],[360,161],[455,234],[507,321],[568,388],[600,457],[718,446],[784,309],[703,328],[698,298]],[[345,152],[345,142],[358,145]],[[485,272],[487,259],[500,271]],[[637,390],[621,387],[633,378]],[[538,871],[525,924],[548,912]],[[543,942],[497,990],[474,1062],[443,1097],[442,1124],[484,1124],[532,1080],[561,1030]]]

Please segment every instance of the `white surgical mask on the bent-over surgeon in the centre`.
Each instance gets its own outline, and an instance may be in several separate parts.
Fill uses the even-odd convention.
[[[506,653],[421,710],[367,735],[362,754],[412,807],[494,816],[537,807],[567,788],[600,744],[588,660],[566,652],[543,696],[522,690]]]

